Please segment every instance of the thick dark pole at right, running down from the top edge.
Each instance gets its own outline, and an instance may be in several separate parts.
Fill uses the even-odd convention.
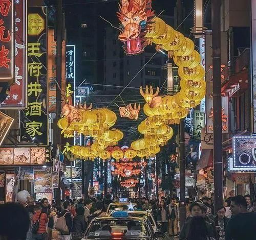
[[[223,205],[221,109],[221,0],[211,1],[212,85],[214,101],[214,207]]]

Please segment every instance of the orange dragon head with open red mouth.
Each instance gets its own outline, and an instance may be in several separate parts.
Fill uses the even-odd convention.
[[[147,45],[145,35],[154,18],[152,0],[120,0],[117,16],[120,21],[119,40],[127,55],[140,54]]]

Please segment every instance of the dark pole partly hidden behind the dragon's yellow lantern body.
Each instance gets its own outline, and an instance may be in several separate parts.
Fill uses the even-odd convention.
[[[182,0],[177,0],[177,26],[182,29]],[[184,119],[180,119],[180,229],[186,220],[186,185],[185,185],[185,128]]]

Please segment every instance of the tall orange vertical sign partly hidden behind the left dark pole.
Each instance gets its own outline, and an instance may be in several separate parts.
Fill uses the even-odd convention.
[[[56,41],[54,40],[54,29],[48,29],[48,96],[49,113],[56,111]],[[61,55],[61,90],[66,88],[66,41],[62,42]],[[62,95],[62,103],[65,98]]]

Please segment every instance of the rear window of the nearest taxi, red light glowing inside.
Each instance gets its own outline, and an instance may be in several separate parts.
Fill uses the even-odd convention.
[[[95,220],[86,232],[86,236],[127,236],[148,237],[150,232],[144,221],[128,219]]]

